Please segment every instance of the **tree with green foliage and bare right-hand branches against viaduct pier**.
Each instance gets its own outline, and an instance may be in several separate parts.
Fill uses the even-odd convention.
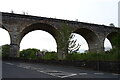
[[[62,24],[60,33],[62,37],[59,37],[59,48],[63,51],[62,54],[74,53],[77,52],[80,48],[79,44],[76,44],[77,39],[73,39],[75,37],[74,34],[71,34],[73,28],[70,27],[67,23]]]

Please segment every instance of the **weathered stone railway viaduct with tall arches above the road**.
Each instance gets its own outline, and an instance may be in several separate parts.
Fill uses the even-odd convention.
[[[50,33],[56,40],[57,46],[59,46],[58,36],[60,37],[61,35],[59,29],[62,24],[67,23],[73,28],[73,33],[80,34],[84,37],[88,43],[89,51],[93,52],[104,51],[105,38],[108,38],[112,46],[114,46],[112,43],[112,37],[120,31],[120,28],[92,23],[4,12],[1,14],[2,23],[0,27],[7,30],[10,35],[11,57],[19,56],[19,48],[22,38],[27,33],[34,30],[43,30]],[[61,49],[59,47],[57,47],[57,52],[59,55],[61,54]]]

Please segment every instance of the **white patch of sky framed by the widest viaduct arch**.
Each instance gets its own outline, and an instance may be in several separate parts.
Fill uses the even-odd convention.
[[[46,49],[48,51],[57,52],[57,45],[54,37],[48,32],[42,30],[29,32],[23,37],[20,43],[20,50],[27,48],[37,48],[41,51]]]

